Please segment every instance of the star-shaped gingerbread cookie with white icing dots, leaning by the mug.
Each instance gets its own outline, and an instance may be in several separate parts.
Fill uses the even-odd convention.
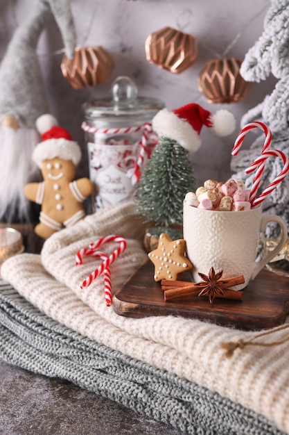
[[[185,256],[186,241],[172,240],[168,234],[161,233],[157,249],[148,254],[155,265],[155,281],[161,279],[179,279],[179,275],[193,268],[189,258]]]

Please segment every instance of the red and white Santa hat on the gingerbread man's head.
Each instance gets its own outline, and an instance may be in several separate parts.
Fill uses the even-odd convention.
[[[69,132],[58,126],[58,121],[52,115],[42,115],[36,120],[36,128],[40,132],[42,142],[34,149],[32,158],[38,167],[42,162],[59,157],[63,160],[71,160],[78,165],[81,158],[81,150],[77,142],[74,142]]]

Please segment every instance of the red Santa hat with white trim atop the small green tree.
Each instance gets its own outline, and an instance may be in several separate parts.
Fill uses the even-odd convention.
[[[228,136],[236,127],[234,115],[228,110],[215,114],[199,104],[186,104],[175,110],[160,110],[152,119],[152,128],[159,136],[176,140],[185,149],[195,152],[201,145],[200,132],[205,125],[216,136]]]

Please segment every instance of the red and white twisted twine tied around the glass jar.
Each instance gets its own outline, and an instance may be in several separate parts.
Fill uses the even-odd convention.
[[[134,165],[134,170],[130,174],[130,176],[132,177],[132,185],[139,181],[139,179],[141,178],[141,166],[143,165],[146,154],[148,154],[148,142],[153,138],[152,124],[150,124],[149,122],[145,122],[145,124],[139,126],[119,127],[118,129],[99,129],[89,126],[86,122],[82,122],[81,128],[88,133],[104,134],[125,134],[137,133],[138,131],[142,131],[141,140],[139,141],[139,156],[137,158],[137,162]],[[155,144],[157,143],[157,140],[154,139],[153,141],[155,142]]]

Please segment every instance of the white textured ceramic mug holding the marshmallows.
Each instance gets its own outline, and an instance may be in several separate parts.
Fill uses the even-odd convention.
[[[260,233],[268,222],[281,227],[280,241],[272,252],[256,262]],[[223,271],[222,278],[243,275],[241,290],[276,256],[287,239],[286,223],[276,215],[264,215],[262,207],[249,211],[212,211],[189,206],[184,201],[184,240],[186,252],[193,263],[193,281],[201,281],[198,272],[209,274],[211,266]]]

